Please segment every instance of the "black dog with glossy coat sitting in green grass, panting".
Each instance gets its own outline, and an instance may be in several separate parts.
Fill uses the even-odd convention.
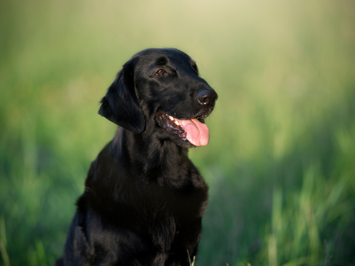
[[[208,143],[215,100],[184,52],[125,63],[99,110],[118,130],[91,165],[56,265],[189,265],[208,187],[187,148]]]

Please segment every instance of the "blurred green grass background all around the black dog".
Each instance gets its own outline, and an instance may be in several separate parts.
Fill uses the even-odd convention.
[[[218,92],[196,265],[355,265],[355,2],[1,1],[0,265],[62,254],[97,115],[136,52],[175,47]]]

